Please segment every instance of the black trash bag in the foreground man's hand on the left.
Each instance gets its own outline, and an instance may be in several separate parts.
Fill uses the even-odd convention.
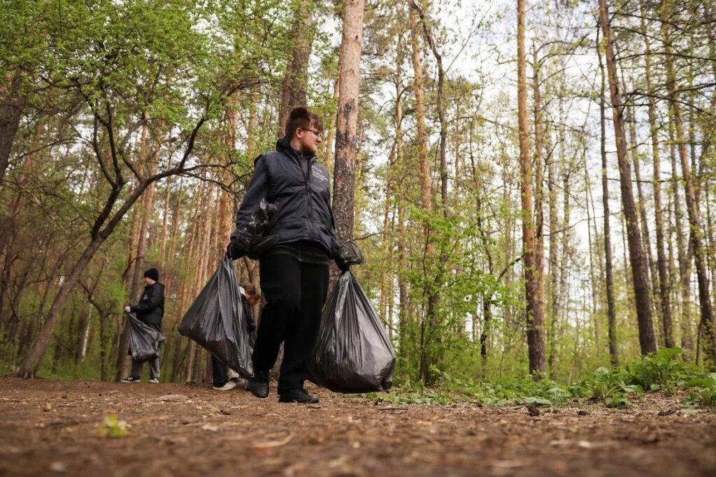
[[[228,255],[187,310],[179,333],[202,345],[243,378],[253,378],[251,351],[255,338],[248,330],[236,269]]]

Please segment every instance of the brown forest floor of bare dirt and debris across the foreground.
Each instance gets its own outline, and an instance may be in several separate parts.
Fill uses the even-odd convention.
[[[716,414],[638,408],[319,405],[178,384],[0,378],[0,476],[716,476]],[[127,436],[102,436],[107,416]],[[116,428],[117,426],[115,426]]]

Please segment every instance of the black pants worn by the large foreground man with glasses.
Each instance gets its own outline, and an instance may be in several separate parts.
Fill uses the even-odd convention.
[[[279,394],[302,389],[309,377],[309,356],[328,292],[328,265],[299,262],[291,255],[276,254],[261,257],[259,270],[266,305],[261,310],[253,348],[253,368],[268,372],[284,342]]]

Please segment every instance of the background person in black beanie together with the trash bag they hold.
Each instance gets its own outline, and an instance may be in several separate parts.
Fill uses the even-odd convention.
[[[159,272],[150,268],[144,272],[146,286],[137,305],[127,305],[125,313],[130,320],[130,355],[132,374],[122,383],[138,383],[142,365],[149,362],[150,383],[159,383],[159,347],[164,341],[162,318],[164,316],[164,285],[159,282]],[[136,313],[136,317],[131,315]]]

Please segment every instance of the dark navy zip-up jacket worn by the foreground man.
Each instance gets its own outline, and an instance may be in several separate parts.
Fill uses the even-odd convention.
[[[248,225],[262,199],[276,205],[278,220],[264,235],[277,235],[277,243],[318,242],[329,257],[337,257],[329,174],[315,155],[291,148],[288,137],[276,143],[276,151],[254,161],[253,176],[236,215],[236,230]]]

